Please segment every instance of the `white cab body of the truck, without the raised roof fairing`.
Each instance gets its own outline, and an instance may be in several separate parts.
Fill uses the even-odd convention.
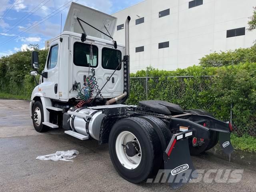
[[[62,38],[62,42],[60,42]],[[90,49],[92,59],[90,60]],[[31,100],[36,96],[68,102],[77,99],[75,82],[83,85],[87,76],[96,76],[97,86],[101,88],[110,78],[124,56],[124,46],[92,36],[81,42],[81,34],[64,31],[52,40],[40,84],[34,89]],[[124,92],[124,64],[112,75],[102,89],[103,98],[114,98]],[[96,92],[93,93],[96,95]]]

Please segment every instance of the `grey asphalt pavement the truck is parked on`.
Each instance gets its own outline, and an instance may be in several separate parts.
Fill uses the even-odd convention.
[[[36,160],[57,150],[76,149],[74,162]],[[108,145],[81,141],[64,130],[38,133],[29,114],[29,102],[0,99],[0,191],[175,191],[254,192],[256,168],[220,159],[211,152],[192,157],[196,169],[243,169],[238,183],[189,183],[176,190],[161,183],[132,184],[121,178],[108,153]],[[212,174],[214,178],[214,174]]]

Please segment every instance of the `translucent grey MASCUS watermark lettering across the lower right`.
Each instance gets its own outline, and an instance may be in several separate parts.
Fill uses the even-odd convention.
[[[147,183],[186,183],[188,178],[190,178],[190,183],[237,183],[241,181],[243,172],[243,169],[198,169],[192,171],[188,169],[187,164],[184,164],[171,170],[159,170],[156,177],[149,178]]]

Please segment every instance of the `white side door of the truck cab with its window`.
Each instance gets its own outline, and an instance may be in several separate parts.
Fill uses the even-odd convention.
[[[48,72],[48,77],[44,78],[43,82],[39,85],[39,90],[45,97],[58,99],[60,45],[58,40],[54,42],[52,42],[50,47],[46,66],[44,68],[44,72]]]

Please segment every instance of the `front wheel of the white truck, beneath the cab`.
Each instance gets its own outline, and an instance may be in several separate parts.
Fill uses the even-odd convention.
[[[49,128],[42,124],[44,122],[44,110],[42,103],[36,101],[32,109],[32,121],[37,132],[46,132]]]

